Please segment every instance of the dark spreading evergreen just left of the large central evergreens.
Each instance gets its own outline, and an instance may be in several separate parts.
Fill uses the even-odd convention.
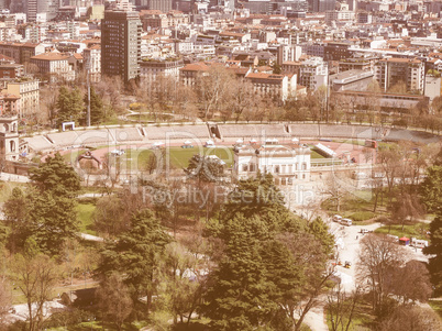
[[[169,235],[152,211],[137,211],[132,216],[131,229],[120,234],[117,241],[106,243],[98,269],[102,275],[124,273],[124,283],[133,300],[146,296],[146,311],[150,312],[161,255],[169,242]]]

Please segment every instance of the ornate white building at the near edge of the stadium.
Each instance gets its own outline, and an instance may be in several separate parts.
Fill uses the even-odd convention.
[[[264,145],[246,145],[235,150],[233,174],[237,179],[246,179],[258,172],[269,173],[276,185],[292,186],[310,180],[310,154],[309,147],[279,145],[277,140],[268,140]]]

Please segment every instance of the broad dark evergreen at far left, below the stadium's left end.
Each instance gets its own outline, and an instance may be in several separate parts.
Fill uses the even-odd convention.
[[[34,186],[24,196],[15,189],[4,212],[12,227],[9,243],[13,251],[32,240],[38,250],[57,255],[65,241],[78,231],[76,200],[80,180],[58,153],[30,170]]]

